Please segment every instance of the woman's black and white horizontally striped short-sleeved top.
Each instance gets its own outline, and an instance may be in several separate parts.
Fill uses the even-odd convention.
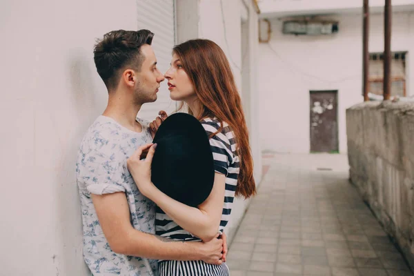
[[[213,118],[206,118],[201,121],[202,126],[210,137],[217,132],[220,122]],[[230,127],[225,122],[224,128],[215,136],[210,138],[210,146],[213,151],[214,168],[216,172],[226,175],[226,191],[224,193],[223,212],[219,230],[223,233],[228,223],[231,213],[231,207],[235,197],[237,186],[237,177],[239,176],[239,157],[236,152],[235,137]],[[180,241],[198,241],[198,237],[188,233],[186,230],[177,225],[161,208],[157,206],[155,217],[155,230],[157,235],[176,239]]]

